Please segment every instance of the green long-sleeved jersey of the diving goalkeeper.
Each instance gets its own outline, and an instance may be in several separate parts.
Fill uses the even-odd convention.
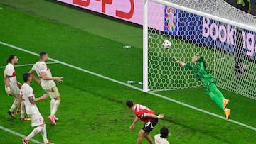
[[[196,65],[184,65],[185,69],[193,70],[193,77],[203,82],[203,85],[209,86],[211,83],[216,82],[212,74],[206,70],[206,60],[203,57],[198,57]]]

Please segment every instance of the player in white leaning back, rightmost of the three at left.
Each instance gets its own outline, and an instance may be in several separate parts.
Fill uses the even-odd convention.
[[[48,65],[46,65],[46,61],[48,60],[48,54],[46,52],[40,52],[39,54],[40,60],[33,65],[32,69],[29,71],[32,74],[32,77],[38,84],[41,84],[43,90],[50,96],[50,119],[53,125],[56,125],[55,121],[58,121],[56,118],[55,113],[58,110],[58,106],[60,106],[60,93],[54,81],[62,82],[63,77],[53,77]],[[33,72],[38,74],[38,77],[33,75]]]

